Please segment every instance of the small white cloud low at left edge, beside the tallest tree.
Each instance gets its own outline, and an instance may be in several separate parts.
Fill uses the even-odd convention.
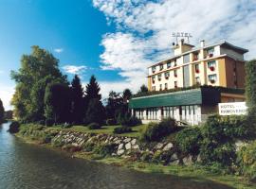
[[[10,106],[10,100],[12,98],[12,95],[14,94],[14,87],[7,86],[5,84],[0,83],[0,99],[3,101],[5,110],[11,110],[12,107]]]

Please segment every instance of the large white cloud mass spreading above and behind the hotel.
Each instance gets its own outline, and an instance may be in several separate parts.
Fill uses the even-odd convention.
[[[256,54],[256,1],[254,0],[93,0],[116,33],[103,36],[103,69],[115,69],[125,83],[146,83],[147,66],[172,56],[173,31],[192,33],[191,43],[200,40],[229,43]],[[133,87],[133,86],[132,86]]]

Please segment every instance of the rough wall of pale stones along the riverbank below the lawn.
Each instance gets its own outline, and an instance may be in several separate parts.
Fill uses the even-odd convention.
[[[159,143],[143,143],[137,138],[114,136],[107,134],[80,133],[74,131],[59,131],[52,139],[51,144],[77,150],[94,151],[96,147],[111,146],[108,156],[130,158],[134,161],[154,162],[164,164],[192,164],[197,157],[179,154],[170,141]]]

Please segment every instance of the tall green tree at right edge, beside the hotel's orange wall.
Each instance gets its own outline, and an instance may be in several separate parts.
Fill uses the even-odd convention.
[[[246,62],[246,97],[248,107],[248,120],[256,122],[256,60]],[[255,126],[254,126],[255,127]]]

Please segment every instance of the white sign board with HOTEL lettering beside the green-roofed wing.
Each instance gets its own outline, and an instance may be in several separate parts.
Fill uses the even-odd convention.
[[[246,102],[219,103],[220,115],[244,115],[247,114]]]

